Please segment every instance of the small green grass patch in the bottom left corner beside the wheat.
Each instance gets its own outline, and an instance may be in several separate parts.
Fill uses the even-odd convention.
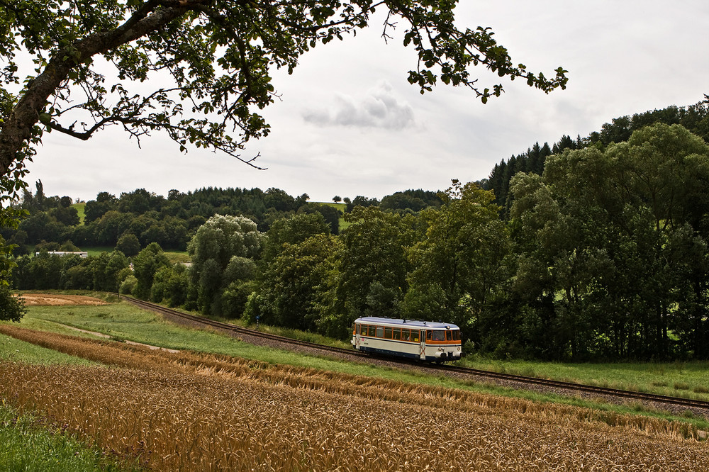
[[[8,472],[138,471],[57,427],[0,403],[0,466]]]

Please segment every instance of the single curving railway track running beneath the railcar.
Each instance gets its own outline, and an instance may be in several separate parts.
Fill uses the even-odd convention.
[[[155,303],[146,302],[144,300],[138,300],[137,298],[131,298],[131,297],[126,297],[126,296],[122,296],[122,295],[119,297],[123,300],[130,302],[130,303],[138,305],[141,308],[145,308],[145,310],[150,310],[153,312],[162,313],[163,315],[168,315],[169,317],[182,318],[182,320],[189,320],[190,322],[194,322],[195,324],[214,327],[214,328],[217,328],[218,330],[233,332],[233,333],[239,334],[239,335],[259,337],[259,338],[268,339],[271,341],[281,342],[284,344],[290,344],[292,346],[301,346],[301,347],[307,347],[310,349],[318,349],[319,351],[322,351],[322,352],[331,352],[334,354],[347,354],[348,356],[356,356],[356,357],[361,357],[363,359],[367,359],[367,358],[371,357],[370,354],[365,354],[364,352],[355,351],[354,349],[342,349],[340,347],[325,346],[323,344],[316,344],[313,342],[306,342],[306,341],[300,341],[298,339],[291,339],[289,337],[272,335],[272,334],[269,334],[266,332],[251,330],[251,329],[245,328],[245,327],[230,325],[229,323],[225,323],[225,322],[209,320],[208,318],[203,318],[201,316],[190,315],[188,313],[182,313],[177,310],[172,310],[171,308],[165,308],[164,306],[157,305]],[[387,357],[386,359],[388,359],[389,361],[398,363],[398,364],[409,364],[409,365],[413,364],[411,361],[408,361],[407,359],[396,359],[395,357]],[[611,397],[615,397],[615,398],[627,398],[627,399],[639,400],[639,401],[643,401],[643,402],[663,403],[666,405],[675,405],[675,406],[686,407],[686,408],[700,408],[700,409],[709,411],[709,402],[702,401],[702,400],[692,400],[690,398],[679,398],[679,397],[671,397],[671,396],[667,396],[667,395],[655,395],[652,393],[634,392],[634,391],[630,391],[630,390],[619,390],[617,388],[605,388],[605,387],[584,385],[581,383],[554,381],[554,380],[549,380],[547,378],[518,376],[518,375],[514,375],[514,374],[510,374],[510,373],[484,371],[484,370],[480,370],[480,369],[470,369],[468,367],[451,366],[451,365],[447,365],[447,364],[437,366],[436,369],[441,370],[441,371],[469,375],[469,376],[479,376],[479,377],[500,379],[503,381],[514,381],[514,382],[525,383],[525,384],[535,385],[535,386],[545,386],[548,388],[571,390],[571,391],[576,391],[576,392],[590,393],[593,395],[607,395],[607,396],[611,396]]]

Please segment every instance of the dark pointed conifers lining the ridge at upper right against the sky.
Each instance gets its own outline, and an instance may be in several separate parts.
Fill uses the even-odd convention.
[[[582,138],[578,135],[574,140],[570,136],[563,135],[552,147],[549,147],[546,142],[541,146],[539,142],[535,142],[527,152],[513,155],[495,164],[483,187],[495,191],[495,203],[503,208],[503,216],[507,218],[513,201],[513,198],[510,198],[510,181],[515,174],[531,172],[542,175],[546,159],[552,154],[560,154],[566,149],[580,150],[586,147],[605,150],[613,143],[629,140],[633,132],[655,123],[682,125],[705,142],[709,142],[709,96],[706,96],[704,101],[687,107],[669,106],[661,110],[614,118],[610,123],[605,123],[600,131],[594,131],[587,137]]]

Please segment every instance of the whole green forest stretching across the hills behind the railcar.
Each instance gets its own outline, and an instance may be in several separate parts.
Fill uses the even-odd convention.
[[[467,352],[498,357],[708,359],[708,142],[709,99],[381,201],[138,189],[99,193],[81,222],[38,182],[1,235],[16,290],[121,291],[341,338],[361,316],[445,320]],[[91,246],[115,249],[48,253]],[[185,250],[190,264],[164,252]]]

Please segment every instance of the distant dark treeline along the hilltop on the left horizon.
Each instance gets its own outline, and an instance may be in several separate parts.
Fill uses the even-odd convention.
[[[47,197],[41,181],[36,192],[25,191],[19,206],[28,212],[18,230],[3,228],[1,235],[17,245],[38,249],[72,250],[78,246],[108,246],[135,255],[140,247],[157,242],[163,249],[184,251],[197,228],[212,215],[245,215],[265,231],[274,220],[297,211],[317,211],[331,230],[339,231],[340,215],[330,206],[306,205],[308,195],[292,197],[280,189],[204,188],[189,193],[169,191],[167,198],[145,189],[116,197],[101,192],[84,206],[84,224],[79,224],[72,199]],[[138,241],[138,244],[135,241]],[[48,244],[43,244],[48,242]]]

